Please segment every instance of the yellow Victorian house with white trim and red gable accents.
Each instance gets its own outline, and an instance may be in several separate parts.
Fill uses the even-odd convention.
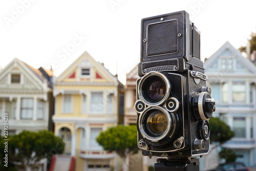
[[[116,76],[84,52],[54,81],[55,135],[75,157],[76,170],[111,170],[116,154],[103,151],[96,137],[118,120]]]

